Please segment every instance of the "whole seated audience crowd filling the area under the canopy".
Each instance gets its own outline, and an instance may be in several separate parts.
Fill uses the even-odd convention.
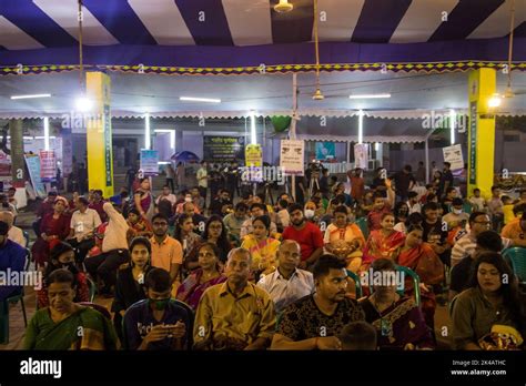
[[[380,169],[368,186],[361,169],[345,181],[308,169],[296,200],[275,204],[209,189],[205,163],[196,186],[156,197],[149,179],[108,200],[50,192],[33,224],[45,285],[24,347],[434,349],[445,303],[453,348],[502,348],[503,336],[522,347],[524,288],[502,252],[526,247],[526,191],[462,196],[447,162],[427,185],[421,167]],[[12,221],[0,220],[0,268],[22,270]],[[110,309],[89,303],[90,283]]]

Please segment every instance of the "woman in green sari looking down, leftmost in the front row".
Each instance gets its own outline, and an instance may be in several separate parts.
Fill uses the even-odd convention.
[[[49,307],[37,311],[29,322],[24,349],[117,348],[111,322],[100,312],[73,302],[77,282],[70,271],[52,272],[47,285]]]

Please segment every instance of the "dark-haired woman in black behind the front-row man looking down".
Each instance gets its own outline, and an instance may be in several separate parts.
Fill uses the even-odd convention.
[[[117,273],[115,298],[111,311],[115,313],[113,325],[119,337],[122,337],[122,317],[133,304],[146,298],[144,277],[152,268],[152,245],[146,237],[135,237],[130,244],[131,262],[121,265]]]

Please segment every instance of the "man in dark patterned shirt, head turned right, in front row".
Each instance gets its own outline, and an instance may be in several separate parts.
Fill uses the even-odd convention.
[[[364,321],[356,301],[345,297],[345,263],[334,255],[320,257],[313,270],[316,291],[283,312],[272,349],[342,349],[337,338],[348,323]]]

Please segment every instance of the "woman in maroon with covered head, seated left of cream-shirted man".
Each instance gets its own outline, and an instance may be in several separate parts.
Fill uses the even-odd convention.
[[[53,204],[53,213],[42,219],[39,237],[31,247],[31,254],[37,266],[43,267],[49,261],[49,253],[52,247],[68,237],[71,217],[65,213],[67,207],[68,201],[64,197],[57,197]]]

